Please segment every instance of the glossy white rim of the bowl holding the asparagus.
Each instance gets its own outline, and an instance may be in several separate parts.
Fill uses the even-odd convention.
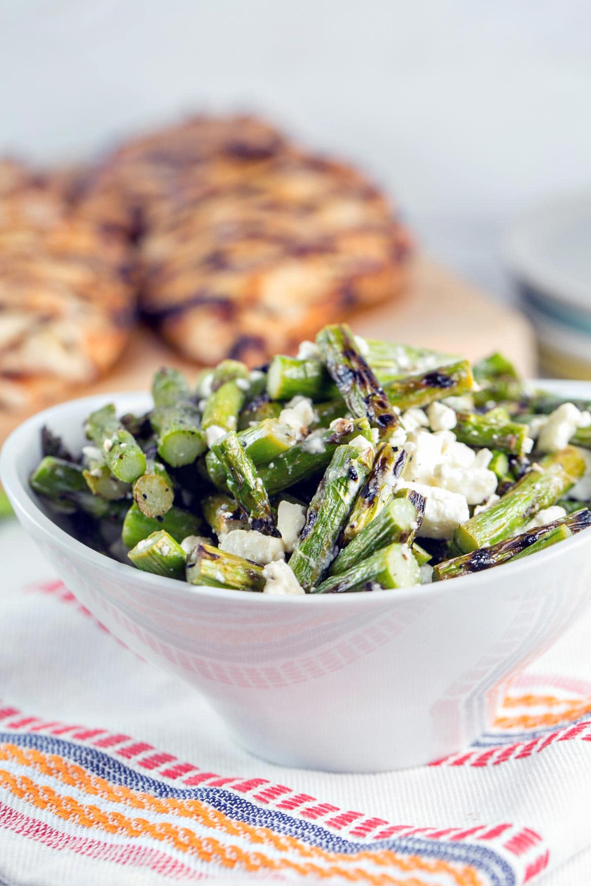
[[[587,392],[586,396],[591,398],[591,381],[534,379],[533,384],[545,385],[550,391],[552,389],[564,390],[564,388],[574,388],[575,391],[573,391],[573,396],[576,393],[576,388],[579,388],[581,394],[585,391]],[[482,586],[488,584],[491,578],[494,579],[496,577],[491,574],[495,572],[495,570],[488,569],[474,572],[466,576],[459,576],[454,579],[447,579],[445,582],[436,581],[426,585],[390,588],[376,594],[267,595],[255,594],[253,592],[239,592],[236,590],[230,590],[229,588],[213,587],[210,585],[192,586],[187,582],[179,581],[178,579],[170,579],[166,576],[152,575],[149,572],[139,571],[130,564],[120,563],[118,560],[114,560],[105,554],[93,550],[93,548],[89,548],[82,541],[74,538],[73,535],[70,535],[68,532],[61,529],[60,526],[53,523],[50,517],[47,517],[43,513],[43,510],[35,501],[35,494],[29,490],[28,486],[25,486],[20,482],[17,470],[14,470],[15,465],[19,460],[19,454],[24,447],[25,441],[30,439],[33,433],[38,433],[43,424],[51,422],[51,418],[60,413],[63,417],[63,413],[67,412],[68,408],[73,408],[74,405],[88,405],[90,411],[92,406],[98,403],[104,404],[105,402],[110,401],[117,403],[118,400],[128,399],[137,402],[137,400],[145,400],[147,397],[149,397],[149,393],[145,391],[91,394],[86,397],[75,398],[74,400],[66,400],[49,408],[45,408],[41,412],[35,413],[34,416],[27,418],[22,424],[19,424],[19,426],[15,428],[5,440],[4,446],[0,451],[0,479],[2,480],[4,490],[6,491],[17,516],[19,515],[19,511],[21,511],[27,517],[27,520],[33,523],[38,530],[43,532],[43,534],[49,535],[52,540],[57,540],[62,548],[73,548],[76,556],[82,557],[82,559],[89,563],[89,565],[99,567],[102,570],[112,570],[120,579],[126,579],[127,577],[128,579],[133,579],[134,582],[139,581],[140,583],[145,584],[146,587],[152,587],[154,590],[159,590],[163,594],[175,597],[180,596],[185,600],[198,599],[200,595],[205,595],[206,597],[214,599],[234,602],[237,602],[238,600],[239,602],[251,600],[253,605],[272,606],[287,602],[288,605],[294,606],[334,606],[344,605],[343,601],[348,601],[349,603],[354,602],[354,605],[371,605],[372,602],[385,602],[386,599],[390,599],[393,602],[397,600],[408,600],[412,597],[423,599],[427,595],[432,596],[441,593],[449,593],[452,589],[455,591],[466,590],[470,591],[470,594],[473,594],[478,585]],[[581,504],[583,505],[583,502],[581,502]],[[550,559],[556,558],[556,556],[567,556],[575,547],[580,547],[581,545],[586,544],[587,542],[585,539],[585,532],[579,532],[572,536],[571,539],[566,539],[559,545],[552,545],[550,548],[546,548],[537,553],[534,557],[535,563],[543,565],[544,563],[549,563]],[[511,577],[517,578],[521,572],[531,570],[532,565],[533,564],[529,562],[527,557],[523,557],[514,563],[503,563],[502,573],[496,578],[499,580],[502,580],[503,578],[509,580]],[[311,600],[317,602],[310,603]]]

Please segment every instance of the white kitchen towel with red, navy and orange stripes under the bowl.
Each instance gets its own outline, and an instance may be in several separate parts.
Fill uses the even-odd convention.
[[[432,766],[335,775],[231,744],[0,531],[0,884],[591,882],[591,618]]]

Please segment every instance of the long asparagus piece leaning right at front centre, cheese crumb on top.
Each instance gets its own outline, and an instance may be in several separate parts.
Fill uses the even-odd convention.
[[[310,501],[306,524],[296,541],[290,566],[304,590],[309,591],[328,569],[338,535],[367,477],[373,461],[373,447],[339,446]]]

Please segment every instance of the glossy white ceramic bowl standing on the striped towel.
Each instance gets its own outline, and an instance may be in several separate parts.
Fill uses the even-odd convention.
[[[551,387],[591,398],[591,384]],[[130,649],[203,692],[253,754],[376,772],[460,750],[490,727],[509,677],[591,595],[591,532],[477,575],[373,594],[269,597],[136,571],[59,529],[27,484],[43,424],[80,447],[82,420],[108,400],[121,413],[149,406],[145,394],[100,394],[30,418],[4,444],[4,488],[80,601]]]

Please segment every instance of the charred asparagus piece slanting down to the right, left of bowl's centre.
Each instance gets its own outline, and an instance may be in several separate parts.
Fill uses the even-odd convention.
[[[214,453],[222,462],[230,493],[248,514],[253,529],[278,535],[273,522],[267,490],[250,455],[240,445],[236,431],[214,443]]]

